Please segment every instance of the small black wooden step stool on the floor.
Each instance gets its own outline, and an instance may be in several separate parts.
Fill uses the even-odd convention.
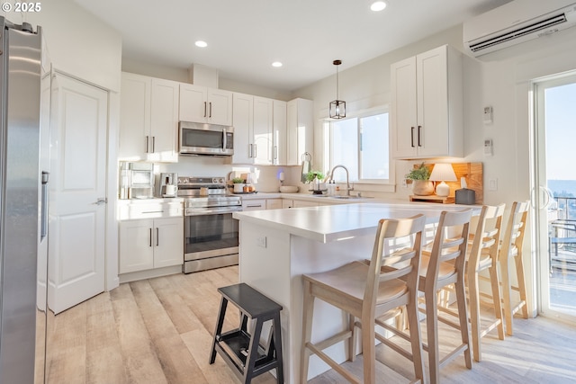
[[[218,291],[222,299],[212,341],[210,363],[215,361],[216,353],[220,353],[222,359],[243,383],[248,384],[258,375],[273,369],[276,369],[278,384],[284,383],[280,329],[282,306],[243,282],[219,288]],[[222,334],[228,302],[240,310],[240,326]],[[252,335],[247,330],[248,319],[254,320]],[[270,345],[266,351],[266,346],[260,345],[260,335],[262,326],[268,320],[273,324]]]

